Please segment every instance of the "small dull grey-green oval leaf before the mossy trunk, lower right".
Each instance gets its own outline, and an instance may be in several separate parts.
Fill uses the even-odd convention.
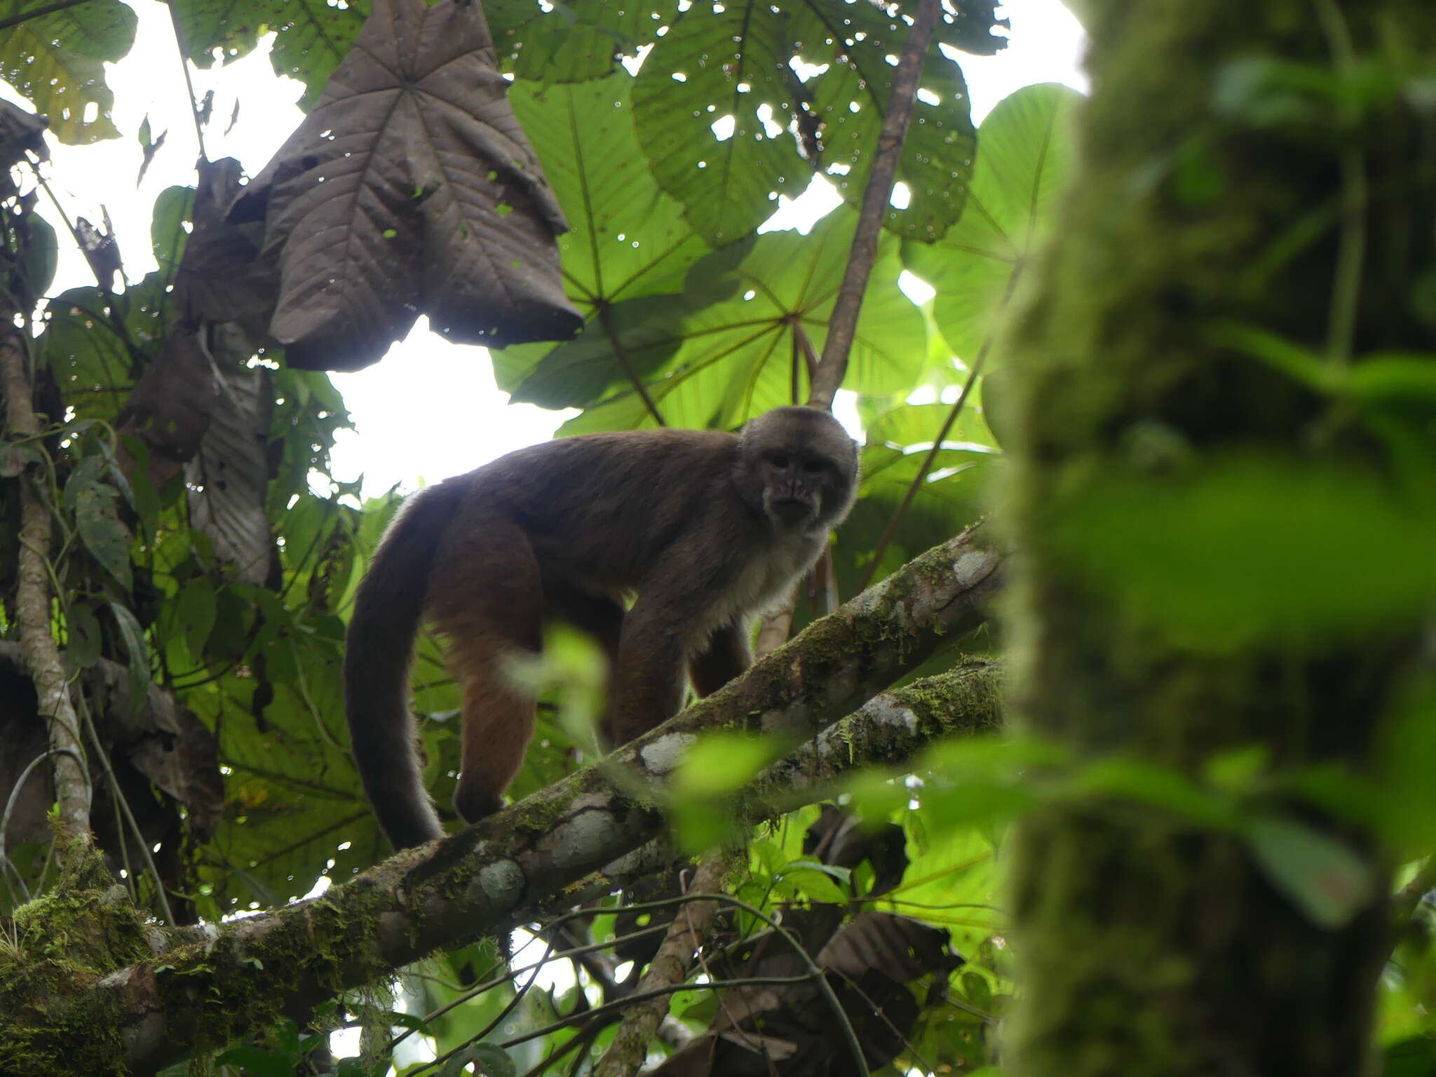
[[[1371,900],[1371,866],[1305,823],[1261,816],[1248,824],[1246,843],[1272,885],[1321,928],[1346,926]]]

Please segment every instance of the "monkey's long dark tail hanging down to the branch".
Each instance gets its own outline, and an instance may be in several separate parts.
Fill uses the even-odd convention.
[[[355,765],[395,849],[444,836],[424,788],[409,715],[409,662],[429,567],[461,495],[461,485],[441,482],[399,510],[359,584],[345,639],[345,714]]]

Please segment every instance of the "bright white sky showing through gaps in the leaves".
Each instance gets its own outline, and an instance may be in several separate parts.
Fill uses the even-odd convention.
[[[198,148],[168,11],[162,3],[128,3],[139,14],[138,37],[131,55],[109,69],[113,118],[123,138],[79,148],[60,146],[52,139],[55,159],[47,177],[70,220],[86,217],[98,224],[103,217],[101,207],[109,210],[125,270],[138,280],[154,269],[149,244],[154,200],[167,187],[194,182]],[[1028,83],[1066,82],[1086,89],[1080,72],[1083,33],[1057,0],[1007,0],[1005,14],[1012,20],[1012,45],[998,56],[962,57],[975,119],[981,121],[998,101]],[[214,119],[205,131],[211,159],[236,157],[253,175],[300,122],[302,113],[294,106],[300,85],[274,76],[264,47],[227,67],[195,70],[192,78],[197,95],[214,90]],[[9,88],[0,93],[19,101]],[[225,135],[236,101],[240,101],[238,121]],[[136,190],[141,162],[136,134],[146,115],[154,135],[168,129],[168,138]],[[811,194],[821,198],[820,191]],[[43,198],[40,211],[62,237],[52,292],[93,283]],[[791,220],[796,224],[800,218]],[[494,386],[484,349],[449,345],[425,332],[422,320],[383,362],[333,379],[358,428],[342,434],[335,445],[333,471],[342,480],[362,472],[370,494],[395,482],[412,490],[421,480],[432,482],[468,471],[510,449],[547,439],[564,419],[563,414],[533,405],[510,405]]]

